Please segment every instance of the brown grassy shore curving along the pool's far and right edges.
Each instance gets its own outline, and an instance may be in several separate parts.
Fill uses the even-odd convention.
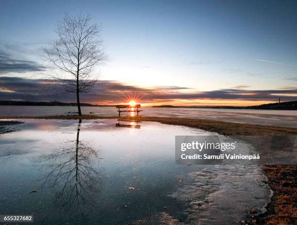
[[[297,136],[297,128],[269,126],[205,119],[187,119],[170,117],[120,117],[95,116],[95,115],[67,115],[67,116],[35,116],[35,117],[0,117],[0,120],[13,119],[59,119],[59,120],[94,120],[94,119],[120,119],[122,121],[154,121],[169,125],[188,126],[205,131],[215,132],[220,135],[293,135]],[[1,126],[0,126],[1,127]],[[1,132],[0,132],[1,133]],[[5,132],[6,133],[6,132]],[[296,224],[297,222],[297,166],[296,165],[269,165],[263,166],[268,185],[273,190],[271,203],[266,207],[266,212],[255,216],[252,224],[277,225]],[[252,214],[252,210],[250,213]]]

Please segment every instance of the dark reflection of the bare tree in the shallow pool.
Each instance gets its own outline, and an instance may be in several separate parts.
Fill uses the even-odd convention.
[[[55,204],[61,210],[82,212],[82,206],[85,209],[92,205],[93,193],[99,191],[95,187],[101,184],[99,173],[92,166],[97,152],[79,140],[81,123],[82,120],[78,123],[76,140],[70,141],[73,145],[67,144],[65,148],[42,156],[42,161],[51,167],[44,184],[57,191]]]

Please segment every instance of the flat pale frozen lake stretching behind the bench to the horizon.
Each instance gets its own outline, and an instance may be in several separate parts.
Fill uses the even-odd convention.
[[[212,109],[212,108],[152,108],[142,107],[140,116],[200,118],[217,121],[274,125],[297,128],[296,110]],[[0,105],[0,117],[52,116],[77,112],[76,106],[14,106]],[[117,116],[115,107],[82,107],[83,114]],[[121,116],[134,116],[122,113]]]

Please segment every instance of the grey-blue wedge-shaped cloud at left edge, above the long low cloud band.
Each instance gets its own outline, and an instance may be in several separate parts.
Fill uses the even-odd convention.
[[[0,74],[10,72],[41,71],[44,67],[32,60],[23,59],[10,51],[6,45],[0,45]]]

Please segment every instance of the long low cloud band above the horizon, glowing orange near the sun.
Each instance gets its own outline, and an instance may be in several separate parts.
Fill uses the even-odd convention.
[[[0,100],[21,99],[26,101],[75,102],[74,94],[62,94],[53,90],[54,85],[43,79],[0,77]],[[186,89],[187,91],[181,91]],[[138,96],[143,103],[172,102],[175,100],[262,100],[273,101],[280,95],[283,101],[297,97],[297,87],[272,90],[245,90],[242,86],[212,91],[197,91],[186,87],[159,86],[138,87],[118,81],[99,81],[92,93],[82,93],[84,103],[121,103],[128,96]]]

